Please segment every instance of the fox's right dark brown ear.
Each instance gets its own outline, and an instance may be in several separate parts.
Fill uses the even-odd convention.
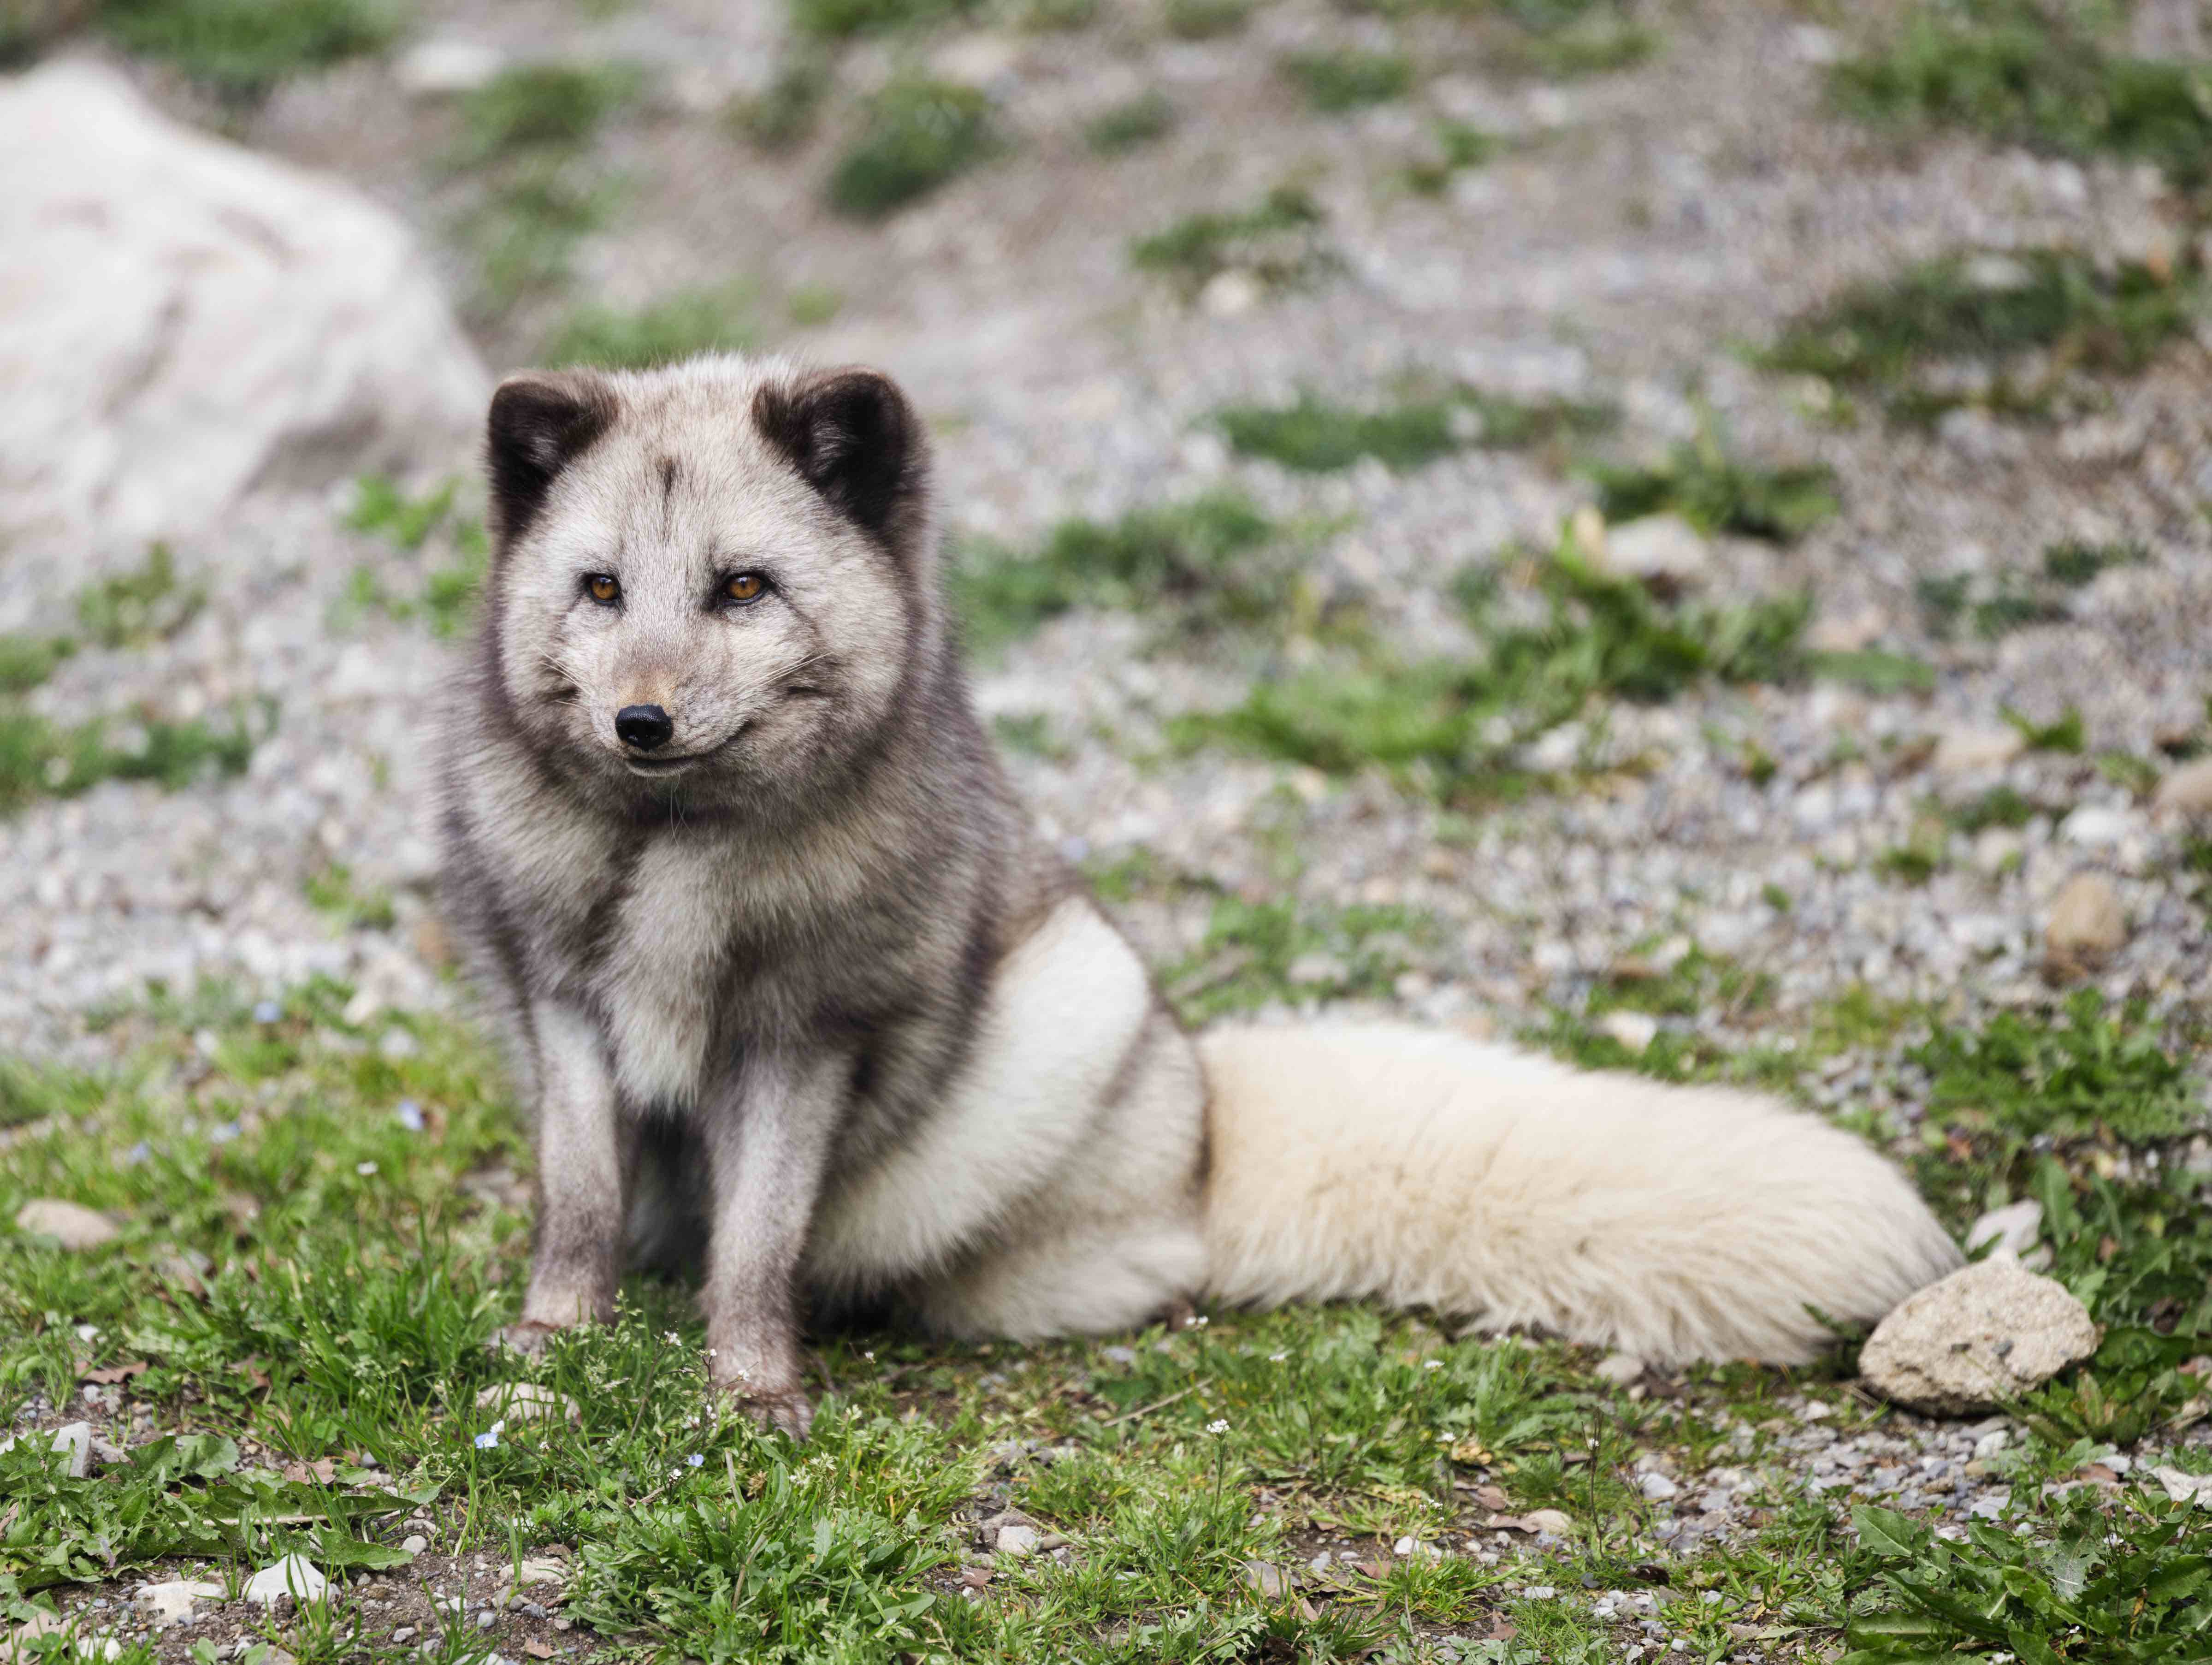
[[[867,531],[898,542],[894,517],[920,495],[922,425],[907,396],[874,369],[825,369],[770,383],[752,420],[799,475]]]

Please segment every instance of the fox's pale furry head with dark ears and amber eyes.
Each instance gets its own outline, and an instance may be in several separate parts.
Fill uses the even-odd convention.
[[[876,371],[524,371],[489,467],[502,705],[597,796],[816,787],[940,650],[927,447]]]

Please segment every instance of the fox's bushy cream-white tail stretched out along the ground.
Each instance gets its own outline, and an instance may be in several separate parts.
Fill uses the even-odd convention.
[[[1960,1265],[1905,1176],[1774,1099],[1398,1024],[1199,1039],[1208,1291],[1380,1298],[1652,1364],[1812,1358]]]

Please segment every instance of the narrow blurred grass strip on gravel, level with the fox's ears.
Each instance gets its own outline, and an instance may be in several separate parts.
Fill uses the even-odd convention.
[[[1438,398],[1407,398],[1374,411],[1301,394],[1294,405],[1232,405],[1214,411],[1214,420],[1239,455],[1267,458],[1301,473],[1327,473],[1349,469],[1360,458],[1376,458],[1391,469],[1418,469],[1471,444],[1546,444],[1601,429],[1613,411],[1458,387]]]

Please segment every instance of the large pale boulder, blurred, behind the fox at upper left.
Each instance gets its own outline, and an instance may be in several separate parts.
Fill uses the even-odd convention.
[[[487,376],[407,228],[153,111],[0,82],[0,540],[190,535],[254,486],[460,467]]]

